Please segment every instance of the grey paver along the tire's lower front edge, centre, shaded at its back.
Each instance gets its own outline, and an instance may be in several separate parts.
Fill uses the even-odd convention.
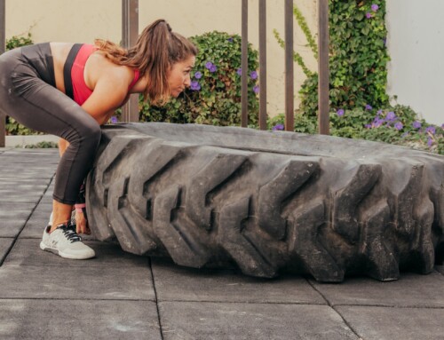
[[[161,260],[153,260],[152,266],[159,301],[327,304],[301,277],[260,280],[232,271],[179,267]]]

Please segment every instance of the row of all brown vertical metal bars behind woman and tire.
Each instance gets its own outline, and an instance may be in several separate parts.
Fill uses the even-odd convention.
[[[5,1],[0,0],[0,54],[5,45]],[[285,25],[285,130],[294,130],[293,0],[284,0]],[[329,0],[318,0],[319,43],[319,132],[329,134]],[[242,69],[248,69],[249,1],[242,0]],[[259,22],[259,128],[266,130],[266,0],[258,0]],[[139,30],[139,0],[122,0],[123,46],[136,42]],[[242,127],[248,126],[248,73],[242,72]],[[139,120],[138,96],[123,107],[123,121]],[[4,118],[0,119],[0,147],[4,146]]]

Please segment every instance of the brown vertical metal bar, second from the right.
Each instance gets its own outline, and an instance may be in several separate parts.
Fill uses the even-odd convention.
[[[293,71],[293,0],[285,0],[285,130],[295,128]]]

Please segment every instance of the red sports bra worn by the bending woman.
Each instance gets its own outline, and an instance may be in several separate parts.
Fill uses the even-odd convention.
[[[86,99],[90,98],[91,96],[91,89],[86,85],[84,82],[84,66],[86,64],[86,60],[91,56],[91,54],[97,51],[97,47],[84,43],[82,47],[80,47],[80,50],[78,51],[77,55],[75,56],[73,66],[71,68],[71,81],[73,84],[73,96],[74,101],[78,105],[82,105]],[[128,90],[131,90],[131,88],[137,83],[139,80],[139,70],[134,70],[134,79],[132,80],[130,86],[128,86]]]

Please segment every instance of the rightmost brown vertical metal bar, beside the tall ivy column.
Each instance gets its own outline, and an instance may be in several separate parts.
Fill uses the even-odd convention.
[[[329,134],[329,0],[318,0],[319,12],[319,133]]]

